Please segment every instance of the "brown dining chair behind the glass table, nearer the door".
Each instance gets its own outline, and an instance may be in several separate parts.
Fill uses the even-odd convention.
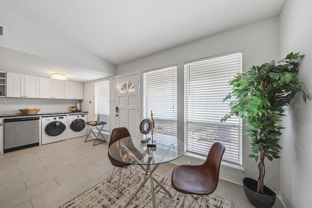
[[[130,136],[130,133],[129,133],[128,129],[125,128],[125,127],[119,127],[119,128],[113,129],[108,147],[110,147],[114,142],[116,142],[116,141],[118,141],[118,140],[120,140],[122,138],[128,137],[128,136]],[[122,151],[122,150],[119,149],[117,151]],[[109,179],[109,182],[111,182],[112,177],[117,172],[119,173],[118,188],[117,188],[117,199],[118,199],[119,198],[119,187],[120,187],[121,171],[123,169],[125,169],[125,168],[129,168],[129,170],[131,172],[131,169],[130,169],[131,164],[120,162],[120,161],[114,159],[109,153],[108,153],[108,158],[109,158],[110,162],[112,163],[112,165],[114,166],[114,170],[113,170],[112,175],[111,175],[111,177]],[[116,171],[115,171],[115,168],[117,168]],[[137,172],[136,168],[135,168],[135,170]],[[126,175],[126,172],[127,171],[124,172],[123,179],[124,179],[124,177]],[[137,172],[137,178],[140,180],[138,172]]]

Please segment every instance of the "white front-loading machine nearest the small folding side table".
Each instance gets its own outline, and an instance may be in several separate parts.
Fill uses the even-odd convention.
[[[87,122],[87,114],[68,115],[68,132],[67,138],[72,139],[87,135],[87,127],[84,122]]]

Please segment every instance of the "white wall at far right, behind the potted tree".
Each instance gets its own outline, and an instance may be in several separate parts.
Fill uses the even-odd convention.
[[[280,58],[290,52],[300,52],[298,77],[312,95],[312,1],[287,0],[279,17]],[[280,190],[292,208],[311,207],[312,187],[312,102],[305,104],[297,95],[284,118],[281,138]]]

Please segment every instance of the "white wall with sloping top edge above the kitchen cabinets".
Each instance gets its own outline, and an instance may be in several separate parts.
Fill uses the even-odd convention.
[[[38,23],[0,3],[0,24],[7,27],[7,38],[0,38],[0,46],[115,75],[110,62],[58,36]]]

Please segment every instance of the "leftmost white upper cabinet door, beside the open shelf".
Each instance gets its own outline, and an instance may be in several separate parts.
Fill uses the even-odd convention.
[[[24,75],[7,72],[6,74],[6,96],[24,96]]]

